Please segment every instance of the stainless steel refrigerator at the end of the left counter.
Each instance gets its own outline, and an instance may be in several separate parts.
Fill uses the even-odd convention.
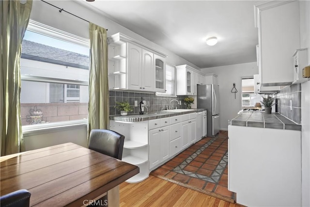
[[[219,86],[197,85],[197,108],[207,110],[207,136],[219,132]]]

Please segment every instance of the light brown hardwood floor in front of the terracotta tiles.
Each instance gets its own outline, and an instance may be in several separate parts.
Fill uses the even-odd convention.
[[[120,207],[242,207],[150,175],[120,185]]]

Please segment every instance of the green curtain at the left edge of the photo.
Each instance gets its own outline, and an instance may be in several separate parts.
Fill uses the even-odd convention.
[[[21,43],[32,0],[1,0],[1,156],[25,151],[20,119]]]

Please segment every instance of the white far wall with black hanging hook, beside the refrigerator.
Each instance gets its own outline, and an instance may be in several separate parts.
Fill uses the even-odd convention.
[[[202,73],[217,74],[217,84],[219,85],[219,111],[220,111],[220,129],[228,130],[228,120],[233,119],[237,112],[242,109],[241,79],[253,77],[258,74],[258,66],[256,62],[246,64],[233,64],[220,67],[202,68]],[[236,83],[236,98],[231,93],[233,83]]]

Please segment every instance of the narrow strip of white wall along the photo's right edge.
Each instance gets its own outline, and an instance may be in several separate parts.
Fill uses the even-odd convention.
[[[310,1],[299,1],[300,47],[308,48],[310,64]],[[310,81],[301,84],[301,188],[302,206],[310,206]]]

